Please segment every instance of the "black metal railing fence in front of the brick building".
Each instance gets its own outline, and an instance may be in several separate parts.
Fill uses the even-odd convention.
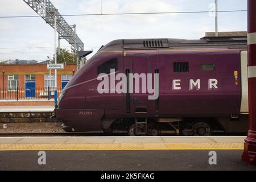
[[[57,88],[57,97],[62,89]],[[54,88],[0,88],[0,100],[53,100]]]

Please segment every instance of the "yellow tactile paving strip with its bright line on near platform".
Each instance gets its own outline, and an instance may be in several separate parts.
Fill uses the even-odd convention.
[[[0,144],[0,151],[243,150],[243,143],[51,143]]]

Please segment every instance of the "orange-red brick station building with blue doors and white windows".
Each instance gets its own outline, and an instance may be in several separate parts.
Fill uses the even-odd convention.
[[[76,72],[76,64],[57,69],[58,94]],[[47,64],[0,64],[0,100],[47,100],[54,97],[54,69]],[[0,104],[1,105],[1,104]]]

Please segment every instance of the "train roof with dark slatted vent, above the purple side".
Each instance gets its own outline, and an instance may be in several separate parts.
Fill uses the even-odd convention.
[[[123,39],[114,40],[101,49],[156,49],[156,48],[247,48],[247,36],[204,37],[186,39]]]

